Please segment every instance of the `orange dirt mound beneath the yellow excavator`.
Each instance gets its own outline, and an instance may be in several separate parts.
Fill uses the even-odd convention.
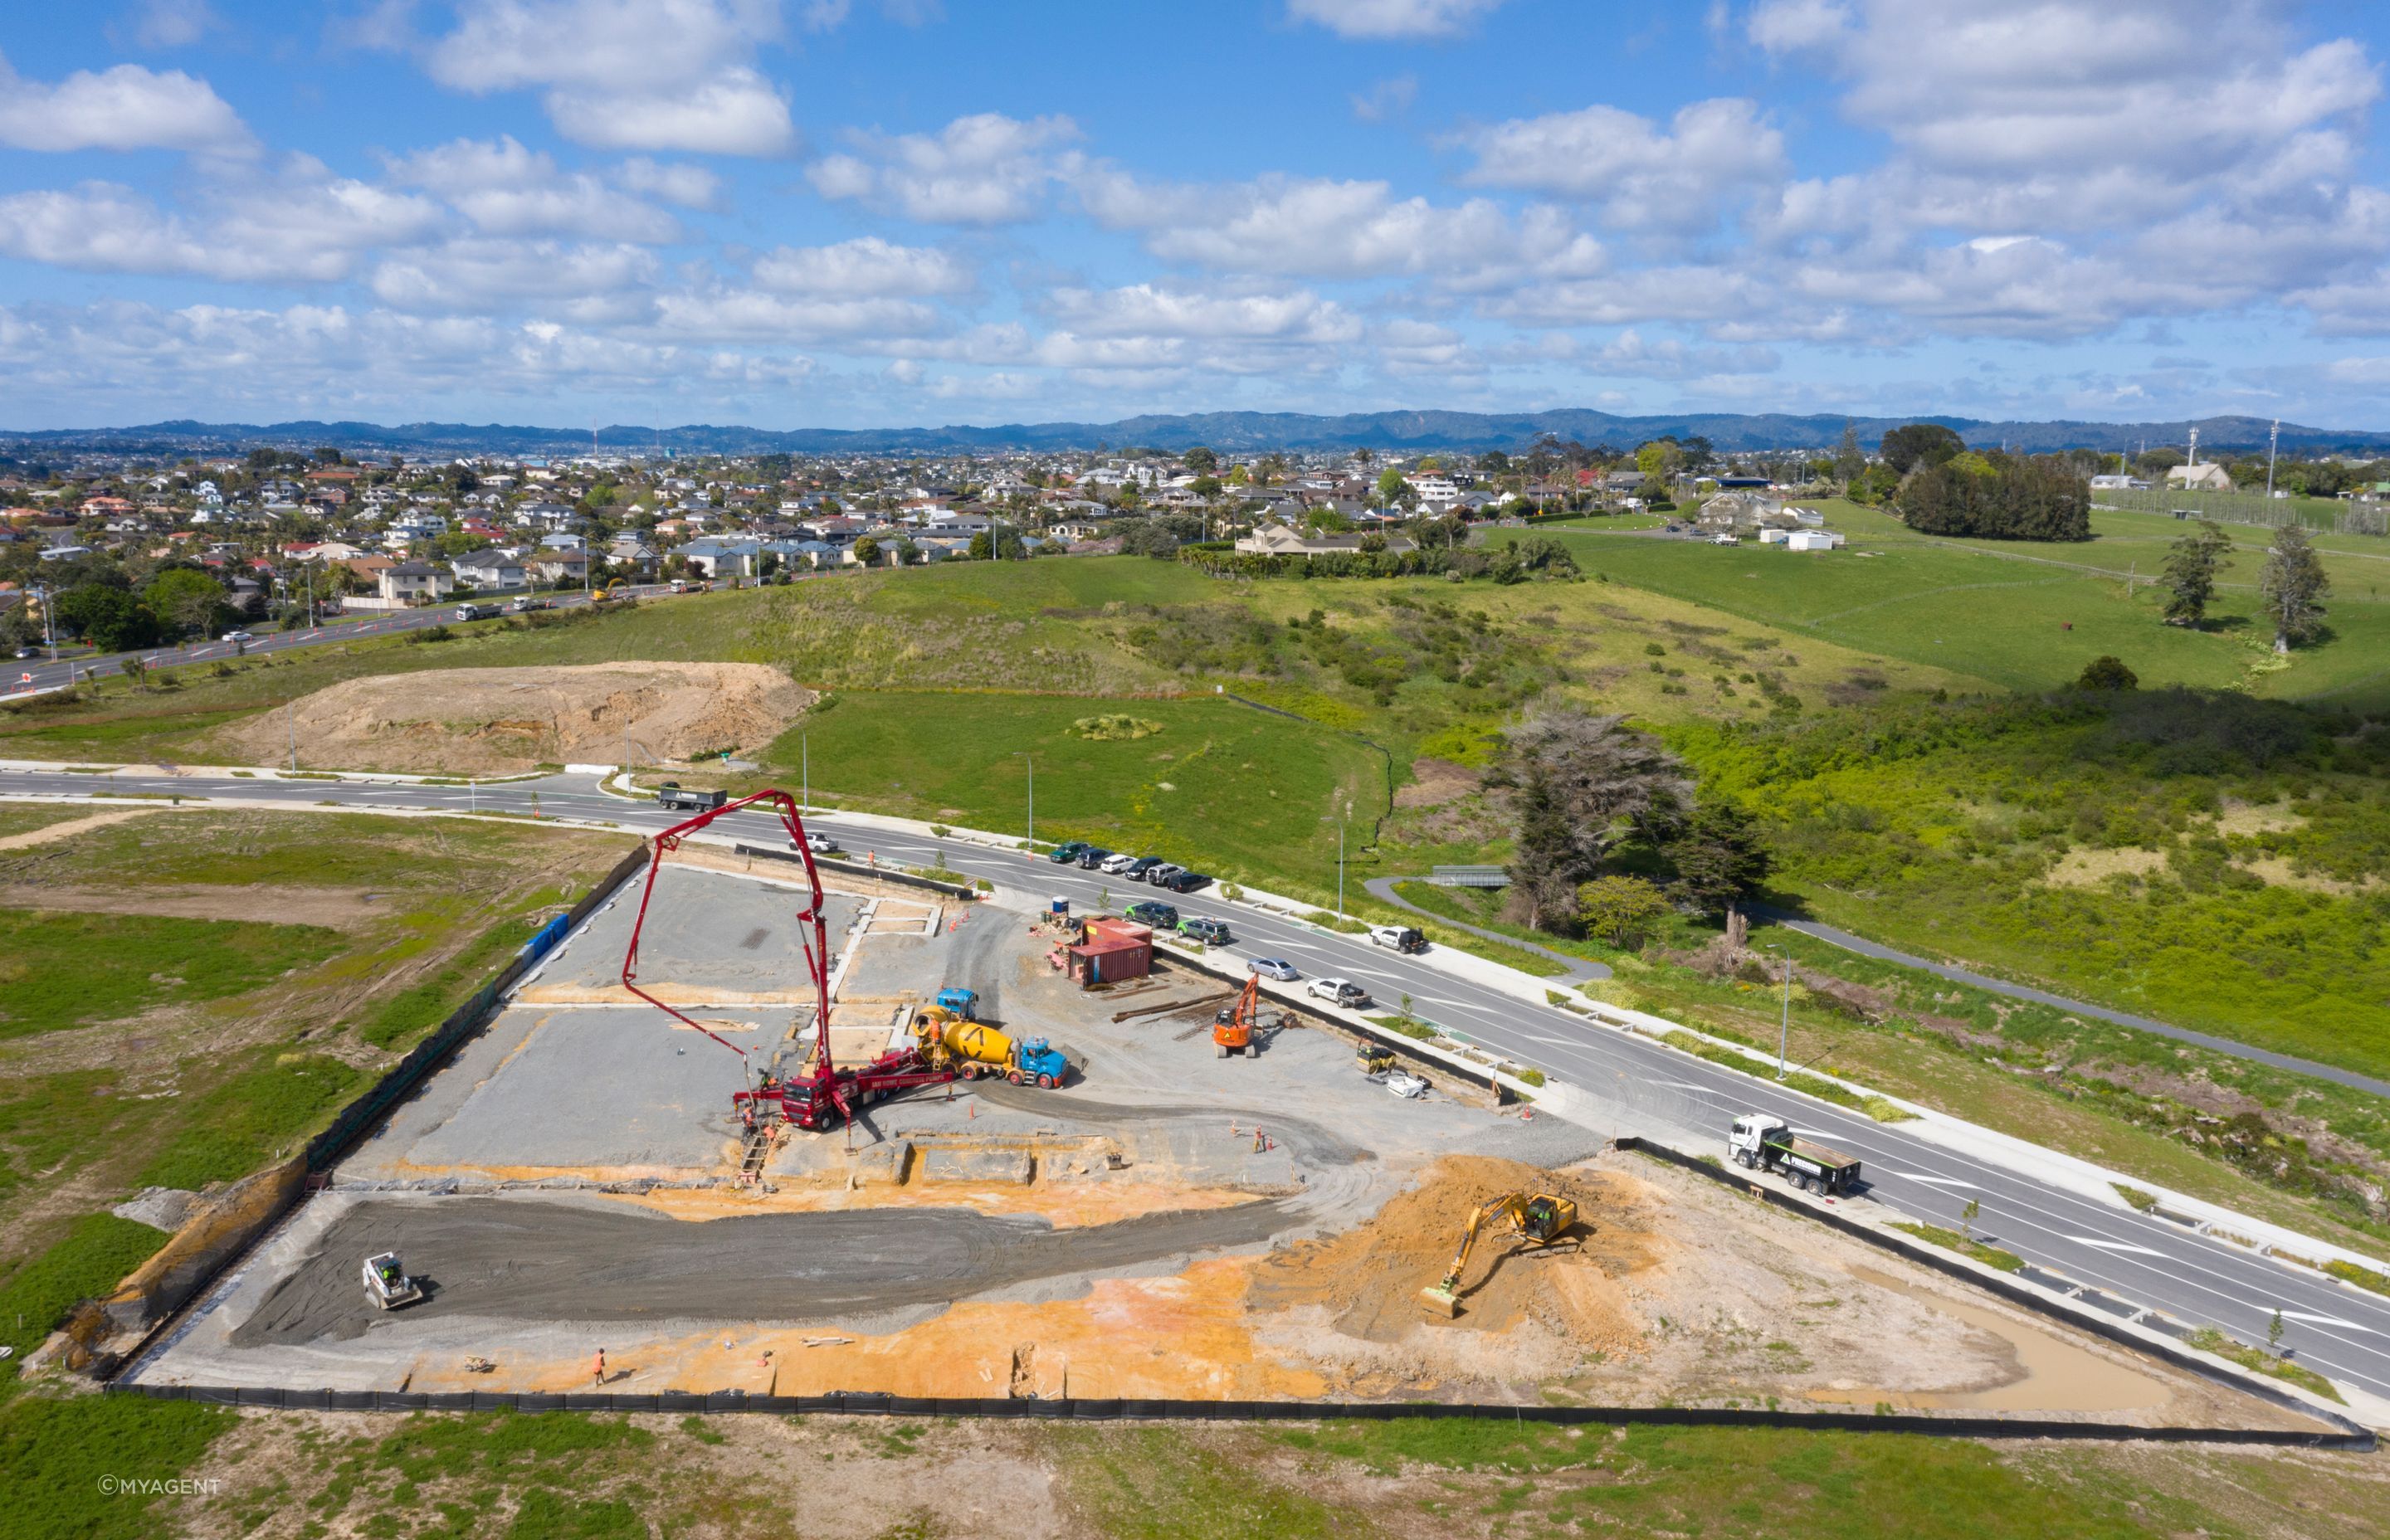
[[[1470,1210],[1518,1191],[1575,1198],[1575,1243],[1532,1253],[1487,1227],[1460,1277],[1460,1318],[1432,1318],[1420,1289],[1444,1277]],[[1489,1155],[1446,1155],[1360,1229],[1288,1246],[1260,1263],[1248,1306],[1322,1306],[1338,1334],[1367,1342],[1401,1342],[1422,1322],[1508,1332],[1532,1320],[1577,1346],[1620,1349],[1640,1337],[1620,1279],[1661,1255],[1661,1241],[1644,1227],[1647,1212],[1640,1184],[1618,1172],[1544,1172]]]

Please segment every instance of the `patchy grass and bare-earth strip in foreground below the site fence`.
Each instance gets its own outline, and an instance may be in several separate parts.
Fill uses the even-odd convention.
[[[956,1447],[985,1483],[958,1490]],[[791,1502],[758,1468],[817,1461]],[[1800,1540],[2366,1540],[2378,1456],[2201,1444],[1984,1444],[1501,1418],[1317,1425],[923,1423],[901,1418],[409,1416],[325,1423],[189,1401],[0,1404],[12,1533],[363,1533],[868,1540],[1766,1535]],[[127,1471],[220,1475],[196,1497],[98,1497]],[[989,1492],[1035,1509],[985,1523]],[[294,1521],[301,1521],[292,1528]],[[280,1523],[277,1523],[280,1521]]]

